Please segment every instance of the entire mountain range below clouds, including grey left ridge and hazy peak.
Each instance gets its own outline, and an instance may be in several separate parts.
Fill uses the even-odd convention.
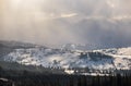
[[[25,42],[0,41],[0,60],[24,65],[64,69],[67,73],[85,67],[102,71],[131,70],[131,47],[99,50],[83,48],[70,44],[60,49],[52,49]]]

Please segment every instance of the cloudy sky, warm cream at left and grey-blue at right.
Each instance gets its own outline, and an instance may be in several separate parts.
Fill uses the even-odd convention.
[[[131,0],[0,0],[0,39],[131,46]]]

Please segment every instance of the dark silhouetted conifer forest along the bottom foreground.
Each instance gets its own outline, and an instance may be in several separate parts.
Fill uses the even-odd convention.
[[[131,75],[127,73],[104,76],[32,73],[28,71],[4,73],[5,71],[0,71],[0,77],[13,81],[15,86],[131,86]]]

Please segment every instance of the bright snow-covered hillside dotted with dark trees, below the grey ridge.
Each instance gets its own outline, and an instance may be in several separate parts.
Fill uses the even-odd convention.
[[[49,48],[15,49],[2,57],[4,61],[45,67],[88,67],[95,70],[131,67],[131,48],[75,51]]]

